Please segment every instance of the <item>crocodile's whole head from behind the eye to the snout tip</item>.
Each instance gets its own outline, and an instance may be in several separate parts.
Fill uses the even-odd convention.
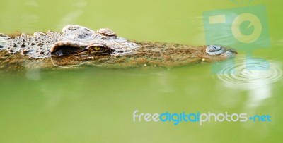
[[[117,37],[115,32],[107,28],[93,31],[79,25],[64,27],[50,53],[55,66],[101,66],[103,63],[104,66],[121,65],[125,68],[149,63],[161,66],[185,65],[200,59],[222,61],[236,55],[236,51],[216,45],[203,48],[183,45],[179,49],[177,44],[131,42]]]

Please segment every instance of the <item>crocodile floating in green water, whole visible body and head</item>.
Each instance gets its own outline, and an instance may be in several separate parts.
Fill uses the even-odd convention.
[[[82,65],[171,68],[201,61],[223,61],[236,54],[234,49],[218,45],[130,41],[108,28],[91,30],[80,25],[66,25],[62,32],[34,32],[33,35],[0,33],[0,70],[9,71]]]

